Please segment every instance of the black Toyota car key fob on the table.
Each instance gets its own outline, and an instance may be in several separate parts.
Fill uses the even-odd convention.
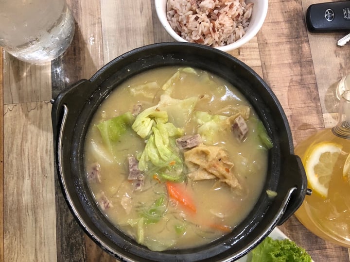
[[[350,1],[312,4],[305,21],[310,32],[349,31]]]

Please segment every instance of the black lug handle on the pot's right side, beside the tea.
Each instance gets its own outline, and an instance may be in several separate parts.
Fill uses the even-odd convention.
[[[304,201],[305,195],[311,195],[311,189],[307,188],[306,174],[300,158],[297,155],[290,155],[286,161],[283,162],[283,165],[286,180],[283,180],[282,183],[284,185],[294,185],[294,190],[290,195],[283,215],[277,223],[278,226],[283,224],[297,211]]]

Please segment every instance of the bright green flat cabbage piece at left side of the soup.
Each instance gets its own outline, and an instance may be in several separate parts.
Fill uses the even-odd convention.
[[[134,116],[130,112],[126,112],[96,125],[103,142],[110,151],[112,151],[113,143],[118,142],[121,135],[127,131],[133,121]]]

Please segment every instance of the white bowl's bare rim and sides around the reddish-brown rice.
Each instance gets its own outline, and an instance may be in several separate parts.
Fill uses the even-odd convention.
[[[237,49],[242,45],[244,45],[249,40],[251,40],[259,32],[267,14],[268,0],[246,0],[246,2],[254,3],[254,5],[252,10],[252,15],[250,18],[250,23],[247,31],[245,32],[245,35],[241,39],[238,39],[232,44],[222,46],[222,47],[216,47],[216,49],[226,51],[226,52],[233,49]],[[166,16],[166,3],[167,3],[167,0],[155,0],[157,16],[159,18],[160,23],[163,25],[164,29],[176,41],[188,42],[187,40],[179,36],[177,33],[175,33],[175,31],[170,26]]]

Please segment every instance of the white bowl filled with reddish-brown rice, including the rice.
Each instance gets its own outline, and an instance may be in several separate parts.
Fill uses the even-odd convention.
[[[155,0],[159,21],[179,42],[237,49],[261,29],[268,0]]]

